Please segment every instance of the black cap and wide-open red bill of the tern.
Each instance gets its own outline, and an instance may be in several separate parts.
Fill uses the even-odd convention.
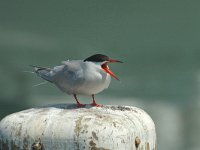
[[[119,60],[115,60],[115,59],[111,59],[106,55],[102,55],[102,54],[95,54],[92,55],[88,58],[86,58],[84,60],[85,61],[89,61],[89,62],[94,62],[94,63],[99,63],[101,65],[101,68],[107,72],[108,74],[110,74],[112,77],[114,77],[115,79],[119,80],[119,78],[110,70],[110,68],[108,67],[109,63],[123,63],[122,61]]]

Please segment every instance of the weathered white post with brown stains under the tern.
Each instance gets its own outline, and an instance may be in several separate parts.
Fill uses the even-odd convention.
[[[129,106],[52,105],[6,116],[1,150],[156,150],[152,119]]]

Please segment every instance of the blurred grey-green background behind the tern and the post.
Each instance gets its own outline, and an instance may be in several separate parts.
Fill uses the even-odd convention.
[[[26,108],[74,99],[28,65],[102,53],[124,64],[121,79],[97,95],[102,104],[143,108],[158,149],[200,149],[200,1],[65,0],[0,2],[0,119]],[[89,103],[90,97],[80,97]]]

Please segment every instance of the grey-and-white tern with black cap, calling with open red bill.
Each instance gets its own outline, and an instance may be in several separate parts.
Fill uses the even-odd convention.
[[[103,105],[96,103],[94,95],[109,87],[111,77],[119,80],[108,67],[109,63],[123,62],[103,54],[94,54],[83,60],[62,61],[61,65],[53,68],[31,66],[39,77],[55,84],[61,91],[73,95],[77,107],[85,107],[77,95],[92,96],[91,106],[101,107]]]

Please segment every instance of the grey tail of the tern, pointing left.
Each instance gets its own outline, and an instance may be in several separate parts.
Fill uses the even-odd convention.
[[[52,75],[52,69],[51,68],[45,68],[45,67],[38,67],[34,65],[30,65],[33,67],[33,71],[40,76],[41,78],[53,82],[53,75]]]

